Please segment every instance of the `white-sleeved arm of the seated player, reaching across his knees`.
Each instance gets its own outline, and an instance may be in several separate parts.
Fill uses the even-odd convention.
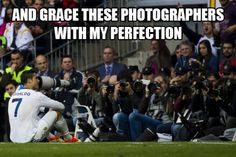
[[[64,111],[65,106],[62,103],[60,103],[59,101],[53,100],[53,99],[47,97],[46,95],[43,95],[40,92],[38,92],[38,93],[39,93],[38,99],[41,102],[40,103],[41,107],[47,107],[47,108],[53,109],[55,111],[59,111],[61,113]]]

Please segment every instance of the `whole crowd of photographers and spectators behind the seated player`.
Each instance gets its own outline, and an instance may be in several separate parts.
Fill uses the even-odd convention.
[[[65,105],[63,116],[71,131],[79,121],[83,130],[79,135],[81,141],[88,141],[88,138],[90,141],[234,139],[235,1],[220,0],[225,9],[225,20],[220,23],[219,30],[214,22],[203,22],[203,33],[198,34],[180,22],[188,39],[180,41],[172,55],[165,40],[151,40],[153,55],[146,60],[142,70],[137,65],[117,63],[114,60],[116,50],[107,46],[102,52],[104,63],[84,73],[74,66],[70,55],[62,57],[59,73],[50,71],[43,53],[38,53],[33,66],[28,65],[32,47],[28,41],[46,32],[52,23],[9,21],[13,6],[33,6],[38,10],[43,6],[59,5],[56,2],[26,0],[23,5],[22,1],[2,1],[1,16],[4,16],[0,21],[0,33],[6,37],[6,50],[13,51],[10,64],[0,75],[1,141],[9,141],[8,100],[21,83],[22,73],[32,69],[36,69],[39,80],[47,76],[70,82],[67,87],[53,87],[42,92]],[[63,1],[59,6],[78,5],[76,1],[69,2]],[[39,45],[44,46],[45,41],[41,40]],[[38,51],[45,50],[44,47]],[[79,105],[89,107],[99,134],[86,119],[77,119]]]

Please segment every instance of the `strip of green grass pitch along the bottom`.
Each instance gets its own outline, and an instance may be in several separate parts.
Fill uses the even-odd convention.
[[[235,157],[236,143],[0,143],[0,157]]]

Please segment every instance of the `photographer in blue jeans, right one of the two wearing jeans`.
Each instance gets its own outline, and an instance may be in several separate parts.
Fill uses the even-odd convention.
[[[168,79],[158,75],[154,78],[145,91],[145,96],[139,106],[138,112],[129,115],[131,139],[135,141],[146,129],[156,129],[162,123],[171,122],[167,109],[167,97],[165,96],[168,87]]]

